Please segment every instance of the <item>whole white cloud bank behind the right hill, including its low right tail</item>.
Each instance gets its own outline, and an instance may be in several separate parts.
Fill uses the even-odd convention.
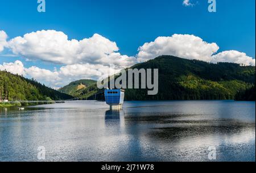
[[[139,47],[138,61],[144,62],[161,55],[172,55],[189,60],[206,62],[233,62],[255,66],[255,59],[237,50],[217,53],[216,43],[207,43],[194,35],[174,34],[170,37],[157,37],[155,41],[144,43]],[[216,54],[217,53],[217,54]]]

